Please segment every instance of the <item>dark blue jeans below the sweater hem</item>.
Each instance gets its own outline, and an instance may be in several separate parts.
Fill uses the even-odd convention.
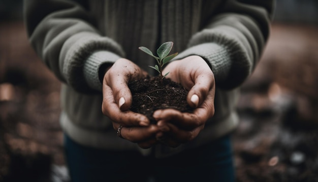
[[[72,182],[235,181],[230,136],[178,155],[156,159],[136,151],[111,151],[80,145],[65,135]]]

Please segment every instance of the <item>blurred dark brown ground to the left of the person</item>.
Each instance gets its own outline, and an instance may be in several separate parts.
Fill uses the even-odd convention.
[[[59,88],[30,48],[23,24],[1,23],[0,181],[49,181],[65,164]]]

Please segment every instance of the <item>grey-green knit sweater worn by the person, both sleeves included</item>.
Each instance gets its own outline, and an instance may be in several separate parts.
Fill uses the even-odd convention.
[[[260,59],[269,36],[270,0],[25,0],[29,41],[62,82],[60,123],[76,142],[166,157],[235,129],[238,88]],[[138,50],[174,42],[175,59],[203,57],[216,82],[215,115],[193,141],[141,149],[117,137],[102,114],[100,68],[125,57],[149,74],[154,59]]]

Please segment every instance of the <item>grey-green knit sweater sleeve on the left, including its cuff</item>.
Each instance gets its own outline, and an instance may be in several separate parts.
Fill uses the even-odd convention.
[[[78,92],[101,90],[99,68],[124,56],[121,46],[96,29],[87,10],[68,0],[25,0],[31,46],[55,76]]]

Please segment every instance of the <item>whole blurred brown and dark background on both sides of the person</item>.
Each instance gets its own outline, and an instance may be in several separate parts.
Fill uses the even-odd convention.
[[[237,105],[237,181],[318,181],[317,17],[316,0],[277,0]],[[28,44],[22,1],[0,0],[0,181],[69,181],[59,88]]]

